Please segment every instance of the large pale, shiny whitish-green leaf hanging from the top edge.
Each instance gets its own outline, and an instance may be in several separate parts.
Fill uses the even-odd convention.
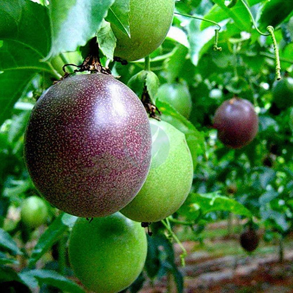
[[[75,51],[94,37],[114,0],[50,0],[52,47],[47,59]]]

